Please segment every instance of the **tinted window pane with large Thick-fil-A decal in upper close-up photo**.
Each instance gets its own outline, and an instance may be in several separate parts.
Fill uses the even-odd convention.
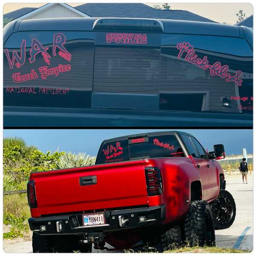
[[[162,35],[160,66],[160,109],[253,113],[253,52],[244,39]]]

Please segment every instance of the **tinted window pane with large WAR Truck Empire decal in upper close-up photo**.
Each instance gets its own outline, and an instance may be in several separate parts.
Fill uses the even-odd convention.
[[[94,44],[84,38],[82,32],[12,34],[3,53],[4,105],[90,107]]]

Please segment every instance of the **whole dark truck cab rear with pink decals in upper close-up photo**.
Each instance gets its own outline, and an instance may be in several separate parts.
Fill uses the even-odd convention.
[[[253,32],[184,20],[55,18],[4,28],[4,126],[253,122]]]

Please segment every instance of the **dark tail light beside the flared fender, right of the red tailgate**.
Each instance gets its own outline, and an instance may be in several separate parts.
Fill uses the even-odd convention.
[[[148,195],[162,195],[163,182],[160,169],[157,167],[145,167]]]

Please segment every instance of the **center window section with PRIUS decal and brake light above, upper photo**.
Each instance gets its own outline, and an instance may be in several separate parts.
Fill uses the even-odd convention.
[[[154,20],[96,21],[92,108],[159,109],[159,29]]]

